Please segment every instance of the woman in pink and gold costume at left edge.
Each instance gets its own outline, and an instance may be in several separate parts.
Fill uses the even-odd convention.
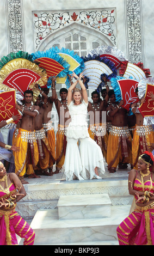
[[[25,196],[18,176],[15,173],[7,174],[0,162],[0,245],[17,245],[16,234],[24,237],[23,245],[34,244],[33,229],[15,211],[16,203]]]

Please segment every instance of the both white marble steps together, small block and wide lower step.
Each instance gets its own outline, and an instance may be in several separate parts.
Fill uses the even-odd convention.
[[[116,228],[131,205],[112,205],[107,193],[60,196],[56,209],[38,210],[34,245],[118,245]]]

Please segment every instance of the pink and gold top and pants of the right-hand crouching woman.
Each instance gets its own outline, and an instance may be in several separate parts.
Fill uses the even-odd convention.
[[[134,190],[154,191],[154,183],[147,180],[144,184],[136,177]],[[136,198],[137,199],[137,198]],[[119,245],[154,245],[154,202],[147,206],[137,206],[116,230]]]

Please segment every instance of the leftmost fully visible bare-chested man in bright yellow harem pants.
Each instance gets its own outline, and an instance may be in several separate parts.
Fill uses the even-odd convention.
[[[20,128],[15,139],[16,147],[20,147],[21,150],[14,152],[15,173],[21,179],[22,184],[28,183],[23,179],[25,173],[27,173],[28,178],[38,178],[34,173],[34,167],[39,161],[35,137],[35,117],[39,114],[39,106],[32,105],[32,100],[32,90],[26,90],[24,92],[24,105],[16,104],[16,109],[23,113],[20,120]],[[27,171],[26,164],[28,164]]]

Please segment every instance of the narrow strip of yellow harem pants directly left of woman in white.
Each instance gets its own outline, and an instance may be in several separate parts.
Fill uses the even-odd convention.
[[[66,127],[58,124],[58,131],[56,134],[56,168],[60,169],[65,161],[66,153]]]

